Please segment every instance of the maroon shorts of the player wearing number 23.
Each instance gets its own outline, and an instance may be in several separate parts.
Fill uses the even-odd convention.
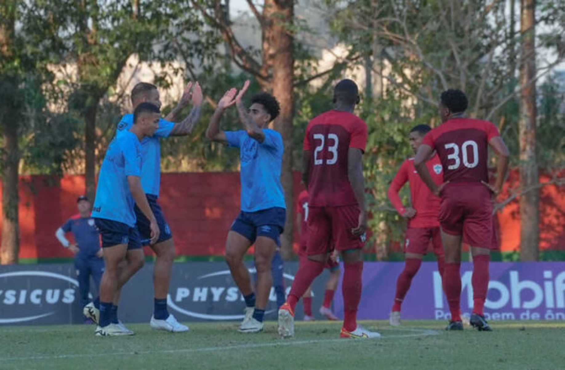
[[[330,253],[350,249],[362,249],[365,238],[356,237],[351,229],[359,224],[359,206],[308,208],[308,241],[306,254]]]

